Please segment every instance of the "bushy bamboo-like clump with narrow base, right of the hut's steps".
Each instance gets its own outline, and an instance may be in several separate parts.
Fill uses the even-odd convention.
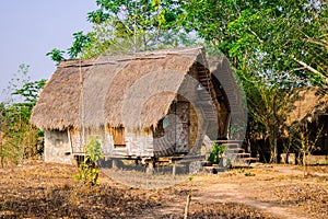
[[[251,116],[251,130],[263,140],[268,139],[271,151],[270,162],[278,161],[278,139],[288,128],[285,124],[289,113],[298,100],[296,89],[281,89],[277,84],[266,87],[251,83],[247,87],[248,111]]]

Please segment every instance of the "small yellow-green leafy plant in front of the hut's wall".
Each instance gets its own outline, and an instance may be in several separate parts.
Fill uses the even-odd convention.
[[[93,137],[84,146],[85,157],[80,164],[80,171],[75,178],[89,185],[98,184],[98,165],[97,161],[103,158],[101,143],[97,138]]]

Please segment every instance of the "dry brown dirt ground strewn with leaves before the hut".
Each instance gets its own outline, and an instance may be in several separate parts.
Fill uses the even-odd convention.
[[[82,186],[71,165],[0,169],[0,218],[328,218],[328,166],[258,165],[198,174],[162,189],[132,188],[101,174]]]

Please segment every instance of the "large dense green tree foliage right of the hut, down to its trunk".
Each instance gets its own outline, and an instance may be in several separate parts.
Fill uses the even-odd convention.
[[[247,96],[248,136],[268,139],[271,162],[294,88],[327,80],[327,3],[302,1],[184,1],[180,22],[230,60]],[[250,135],[249,135],[250,134]]]

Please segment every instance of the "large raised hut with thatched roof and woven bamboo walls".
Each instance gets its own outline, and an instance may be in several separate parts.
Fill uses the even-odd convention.
[[[214,87],[202,47],[68,60],[44,88],[31,123],[46,130],[46,161],[71,162],[90,135],[109,155],[186,153],[207,127],[226,123],[229,108],[216,99],[224,91]]]

